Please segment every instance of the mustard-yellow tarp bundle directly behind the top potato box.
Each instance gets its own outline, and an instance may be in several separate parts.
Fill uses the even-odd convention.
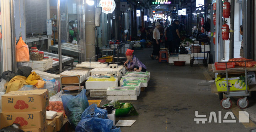
[[[26,77],[25,76],[15,76],[12,78],[6,88],[6,93],[10,91],[18,91],[19,88],[23,87],[23,85],[28,85],[26,83]]]

